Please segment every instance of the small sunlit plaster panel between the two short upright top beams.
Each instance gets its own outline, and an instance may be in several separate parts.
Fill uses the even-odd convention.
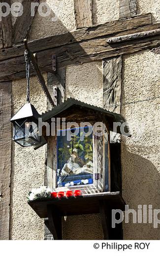
[[[119,19],[119,0],[93,0],[93,23]]]

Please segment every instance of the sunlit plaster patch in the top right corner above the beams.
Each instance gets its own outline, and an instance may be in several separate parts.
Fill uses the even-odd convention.
[[[151,12],[153,22],[160,22],[160,0],[137,0],[137,5],[140,13]]]

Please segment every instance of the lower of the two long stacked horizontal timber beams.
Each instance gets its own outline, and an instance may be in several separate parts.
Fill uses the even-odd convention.
[[[74,43],[65,47],[41,51],[38,54],[38,64],[51,68],[53,51],[57,55],[58,68],[62,68],[68,65],[99,61],[104,58],[131,54],[160,46],[159,35],[122,42],[114,44],[114,46],[107,44],[106,39],[105,37],[91,39],[82,43]],[[24,57],[0,62],[0,71],[0,81],[24,78],[26,76]],[[33,74],[34,72],[31,71],[31,75]]]

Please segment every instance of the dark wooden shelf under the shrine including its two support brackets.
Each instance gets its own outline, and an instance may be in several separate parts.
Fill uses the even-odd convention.
[[[61,199],[49,198],[28,203],[40,218],[48,218],[45,224],[55,240],[62,239],[62,216],[93,213],[101,214],[104,239],[122,239],[119,228],[111,227],[112,209],[125,210],[125,201],[120,192],[83,194]]]

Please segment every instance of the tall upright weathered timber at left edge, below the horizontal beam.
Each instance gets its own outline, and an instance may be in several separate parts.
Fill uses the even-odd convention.
[[[11,94],[11,82],[0,83],[0,240],[9,239]]]

